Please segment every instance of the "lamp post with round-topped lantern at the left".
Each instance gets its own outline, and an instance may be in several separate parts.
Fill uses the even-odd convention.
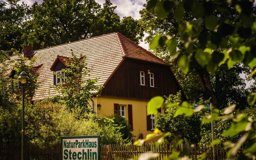
[[[27,79],[29,79],[26,72],[21,72],[20,76],[18,77],[20,80],[20,87],[22,92],[22,119],[21,119],[21,160],[25,160],[25,146],[24,146],[24,102],[25,102],[25,86]]]

